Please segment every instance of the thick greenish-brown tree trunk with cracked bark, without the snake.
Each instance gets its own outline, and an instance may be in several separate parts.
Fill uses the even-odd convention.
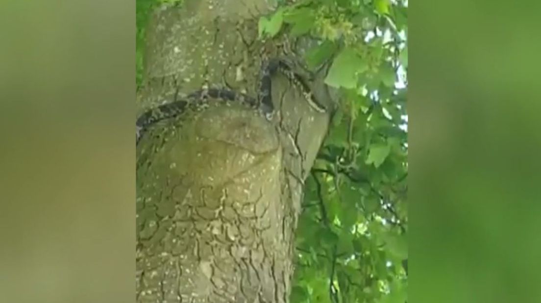
[[[138,114],[202,86],[257,96],[263,0],[186,0],[148,26]],[[137,302],[287,302],[302,187],[327,132],[286,77],[273,77],[276,113],[208,102],[153,127],[137,144]]]

